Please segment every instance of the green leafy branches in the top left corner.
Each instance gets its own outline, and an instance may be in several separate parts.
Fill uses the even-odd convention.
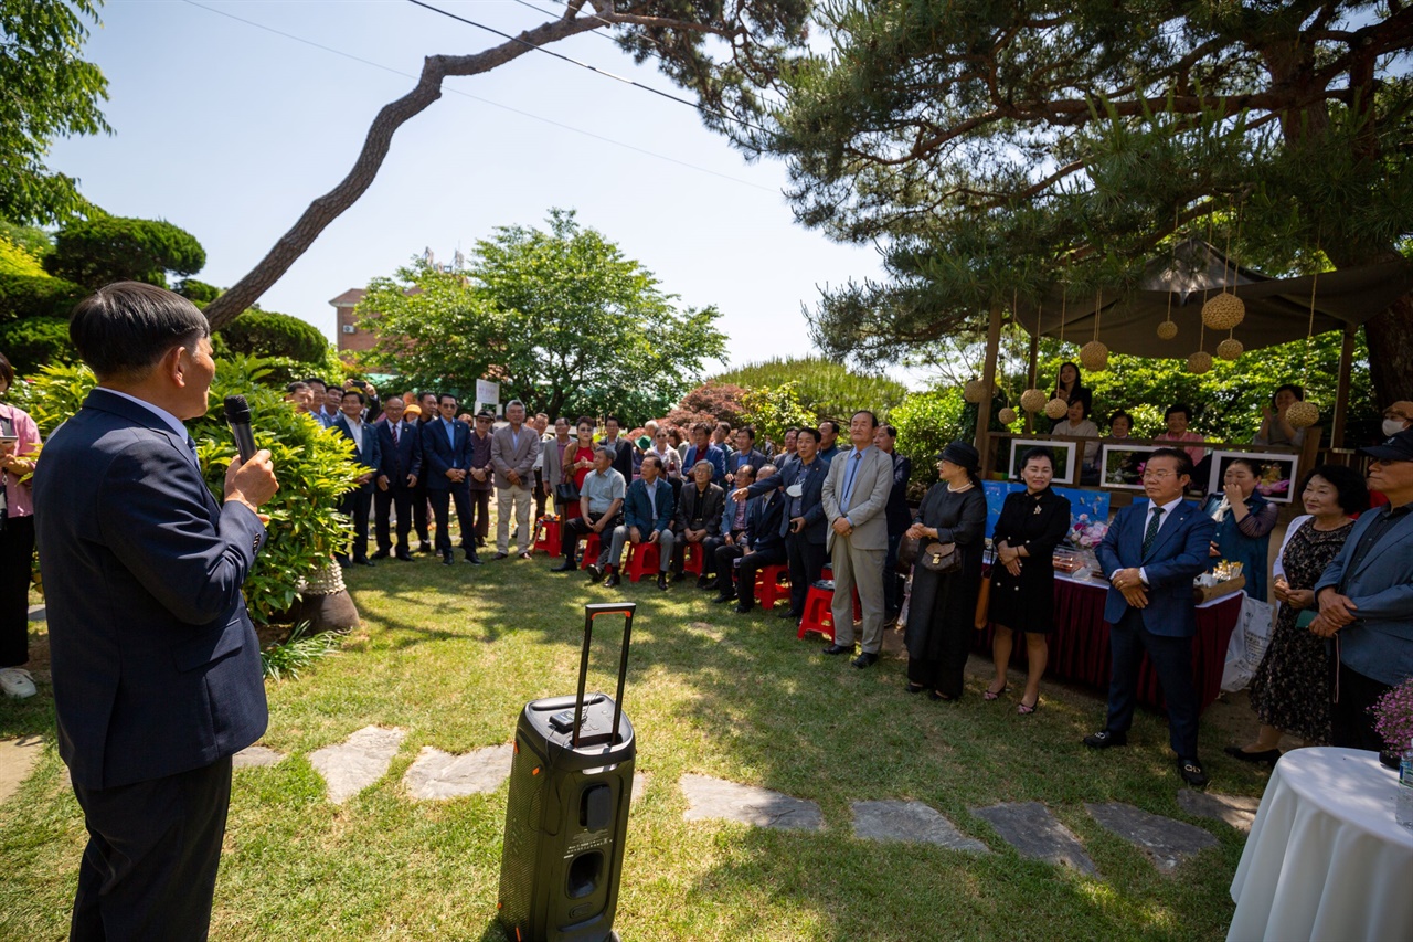
[[[78,181],[51,171],[49,141],[109,133],[107,79],[79,58],[90,0],[0,0],[0,216],[57,222],[89,209]]]

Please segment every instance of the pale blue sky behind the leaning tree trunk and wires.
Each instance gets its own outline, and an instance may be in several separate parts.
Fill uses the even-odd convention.
[[[376,112],[414,83],[394,72],[499,42],[400,0],[199,3],[102,8],[85,57],[109,79],[105,113],[116,133],[57,141],[49,163],[109,212],[192,232],[208,255],[198,277],[222,286],[348,173]],[[509,33],[547,18],[512,0],[438,6]],[[554,48],[682,96],[596,34]],[[550,207],[575,208],[684,304],[718,306],[732,364],[808,354],[801,303],[812,306],[820,286],[879,274],[872,248],[835,245],[794,222],[779,161],[747,164],[690,107],[543,54],[444,89],[261,307],[332,337],[328,301],[343,290],[425,248],[451,260],[496,225],[540,225]]]

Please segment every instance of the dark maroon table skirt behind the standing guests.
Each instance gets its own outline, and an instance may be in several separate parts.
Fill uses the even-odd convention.
[[[1104,621],[1104,586],[1081,586],[1056,580],[1056,628],[1050,632],[1050,662],[1046,676],[1056,680],[1088,683],[1104,692],[1109,689],[1109,625]],[[1197,610],[1197,634],[1193,636],[1193,690],[1200,709],[1207,709],[1222,692],[1222,666],[1226,644],[1231,641],[1241,615],[1242,593]],[[992,627],[978,631],[972,648],[991,653]],[[1016,639],[1010,652],[1015,668],[1026,668],[1026,645]],[[1147,655],[1139,668],[1139,702],[1152,707],[1163,706],[1157,675]]]

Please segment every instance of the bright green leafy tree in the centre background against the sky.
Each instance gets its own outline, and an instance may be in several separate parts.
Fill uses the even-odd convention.
[[[404,382],[471,390],[552,414],[660,416],[709,359],[726,352],[715,307],[682,308],[653,273],[572,211],[548,231],[500,226],[465,272],[427,263],[376,279],[359,304],[376,313],[377,358]]]

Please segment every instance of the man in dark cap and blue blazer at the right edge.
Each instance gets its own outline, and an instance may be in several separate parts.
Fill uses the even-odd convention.
[[[1389,502],[1359,516],[1320,576],[1310,631],[1338,652],[1334,745],[1382,751],[1369,707],[1413,676],[1413,429],[1361,451],[1373,458],[1369,488]]]

